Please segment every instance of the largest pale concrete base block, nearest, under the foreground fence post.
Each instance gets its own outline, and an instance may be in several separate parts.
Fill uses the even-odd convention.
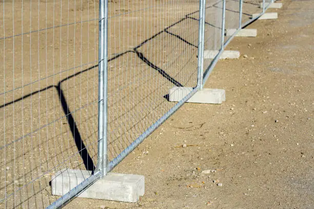
[[[90,171],[62,170],[52,177],[52,195],[62,196],[90,176]],[[109,173],[89,186],[78,197],[137,202],[144,195],[144,176]]]

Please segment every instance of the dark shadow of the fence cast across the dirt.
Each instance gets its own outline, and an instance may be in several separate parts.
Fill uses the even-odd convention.
[[[212,7],[212,6],[210,6],[210,7]],[[207,8],[210,8],[210,7],[207,7]],[[173,37],[179,39],[180,41],[182,41],[183,44],[186,44],[186,45],[191,46],[193,48],[198,48],[198,44],[195,45],[195,44],[191,43],[191,41],[181,37],[180,35],[175,34],[175,33],[169,31],[169,29],[171,27],[173,27],[175,25],[178,25],[178,24],[180,24],[180,23],[182,23],[182,22],[184,22],[186,20],[194,20],[195,24],[198,24],[199,19],[190,16],[191,14],[197,13],[197,12],[199,12],[199,11],[195,11],[195,12],[186,14],[178,22],[175,22],[175,23],[171,24],[170,26],[164,28],[162,31],[159,31],[158,33],[152,35],[150,38],[147,38],[146,40],[142,41],[141,44],[139,44],[138,46],[135,46],[132,50],[127,50],[125,52],[116,54],[115,56],[109,58],[108,62],[113,61],[113,60],[115,60],[115,59],[117,59],[117,58],[119,58],[119,57],[121,57],[121,56],[123,56],[123,55],[125,55],[127,53],[133,53],[146,66],[148,66],[149,68],[152,68],[153,70],[155,70],[155,72],[158,72],[163,78],[165,78],[167,81],[171,82],[172,85],[177,86],[177,87],[183,87],[184,83],[182,81],[180,81],[178,79],[175,79],[173,76],[171,76],[168,72],[163,70],[157,64],[154,64],[153,61],[149,60],[148,57],[145,56],[144,53],[139,51],[139,48],[142,47],[145,44],[148,44],[149,40],[152,40],[153,38],[155,38],[155,37],[157,37],[157,36],[159,36],[159,35],[161,35],[163,33],[164,34],[168,34],[170,36],[173,36]],[[215,27],[215,28],[221,29],[220,27],[214,26],[214,25],[212,25],[211,23],[208,23],[208,22],[205,22],[205,24],[207,24],[207,25],[209,25],[211,27]],[[1,105],[0,109],[5,108],[7,106],[10,106],[14,102],[22,101],[23,99],[26,99],[28,97],[32,97],[33,95],[40,94],[41,92],[45,92],[45,91],[47,91],[49,89],[55,89],[57,94],[58,94],[58,100],[60,101],[63,114],[66,117],[66,120],[67,120],[67,123],[68,123],[67,126],[69,127],[69,130],[71,131],[72,137],[74,139],[74,143],[76,145],[77,153],[80,155],[80,157],[81,157],[81,159],[83,161],[83,164],[85,166],[85,169],[89,170],[89,171],[94,171],[95,170],[95,163],[93,162],[91,154],[88,152],[88,149],[87,149],[88,145],[86,145],[85,142],[82,139],[80,129],[77,127],[77,123],[76,123],[76,121],[75,121],[75,119],[74,119],[74,117],[72,115],[73,111],[71,112],[71,110],[69,108],[67,98],[65,96],[64,91],[61,88],[61,85],[62,85],[63,82],[65,82],[69,78],[78,76],[78,75],[80,75],[80,74],[82,74],[84,72],[90,71],[90,70],[95,70],[95,68],[97,68],[97,67],[98,67],[98,65],[94,65],[92,67],[86,68],[86,69],[84,69],[84,70],[82,70],[80,72],[77,72],[77,73],[74,73],[74,74],[72,74],[70,76],[67,76],[66,78],[60,80],[56,85],[53,84],[53,85],[47,86],[45,88],[42,88],[40,90],[36,90],[36,91],[33,91],[33,92],[29,93],[29,94],[23,95],[22,97],[15,98],[14,100],[6,102],[5,104]],[[165,95],[164,99],[168,100],[168,96],[169,95]],[[38,131],[38,130],[36,130],[36,131]],[[28,133],[28,136],[31,135],[31,134],[33,134],[33,133]],[[24,138],[24,136],[23,136],[23,138]],[[20,141],[20,140],[22,140],[21,137],[16,139],[16,140],[14,140],[14,141],[12,141],[9,144],[15,143],[15,142]],[[6,144],[6,145],[8,145],[8,144]],[[37,193],[35,193],[33,195],[36,195],[36,194]]]

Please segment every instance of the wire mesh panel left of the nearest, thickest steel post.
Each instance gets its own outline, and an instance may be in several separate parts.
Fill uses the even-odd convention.
[[[46,207],[56,199],[52,175],[94,169],[98,8],[0,3],[0,208]]]

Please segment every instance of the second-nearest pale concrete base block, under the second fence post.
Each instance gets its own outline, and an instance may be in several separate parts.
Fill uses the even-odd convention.
[[[169,90],[169,101],[180,101],[188,95],[193,88],[173,87]],[[195,93],[187,102],[221,104],[226,100],[226,92],[223,89],[202,89]]]

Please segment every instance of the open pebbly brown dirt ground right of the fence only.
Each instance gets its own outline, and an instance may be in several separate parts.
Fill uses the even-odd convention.
[[[241,58],[219,61],[206,83],[226,102],[186,103],[113,170],[145,176],[141,202],[65,208],[314,208],[312,3],[283,1],[269,10],[278,19],[248,26],[258,37],[234,38]]]

